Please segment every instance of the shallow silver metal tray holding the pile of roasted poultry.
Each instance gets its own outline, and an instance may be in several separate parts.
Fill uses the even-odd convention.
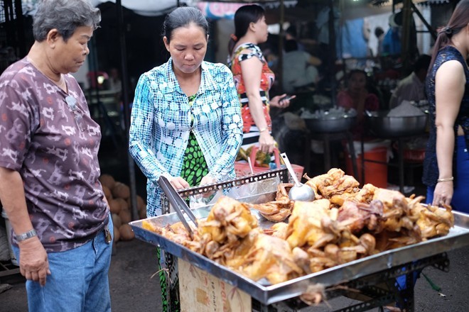
[[[269,196],[269,194],[261,194]],[[259,196],[257,194],[256,196]],[[245,199],[244,201],[250,201]],[[211,206],[204,206],[193,209],[198,218],[207,218]],[[254,212],[254,211],[253,211]],[[441,238],[433,238],[425,242],[409,245],[380,252],[377,255],[362,258],[345,264],[340,264],[330,269],[308,274],[303,277],[291,279],[287,282],[269,285],[264,283],[264,279],[254,282],[252,279],[242,276],[217,262],[214,262],[203,255],[193,252],[182,245],[174,243],[161,235],[142,228],[144,220],[155,223],[158,226],[166,226],[179,221],[176,213],[168,213],[163,216],[156,216],[129,223],[134,230],[136,238],[151,243],[172,255],[194,264],[196,267],[209,272],[223,281],[237,286],[246,291],[252,298],[269,305],[286,299],[291,299],[303,294],[310,284],[323,284],[325,287],[350,282],[352,279],[365,277],[385,269],[397,267],[407,262],[419,260],[431,255],[438,255],[442,252],[454,250],[469,245],[469,215],[454,211],[455,226],[451,228],[448,235]],[[259,216],[259,226],[269,228],[273,223]]]

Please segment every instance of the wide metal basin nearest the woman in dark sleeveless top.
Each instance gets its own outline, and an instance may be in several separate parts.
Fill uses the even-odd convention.
[[[425,133],[428,114],[422,116],[387,116],[388,111],[365,114],[367,127],[382,138],[394,138]]]

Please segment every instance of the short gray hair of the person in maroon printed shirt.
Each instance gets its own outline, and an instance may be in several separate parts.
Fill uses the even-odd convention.
[[[34,40],[41,42],[53,28],[66,42],[81,26],[95,30],[99,27],[101,12],[89,0],[41,0],[33,18]]]

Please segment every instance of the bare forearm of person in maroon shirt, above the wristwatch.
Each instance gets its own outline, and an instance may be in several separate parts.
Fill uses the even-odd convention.
[[[16,234],[33,229],[19,172],[0,167],[0,200]]]

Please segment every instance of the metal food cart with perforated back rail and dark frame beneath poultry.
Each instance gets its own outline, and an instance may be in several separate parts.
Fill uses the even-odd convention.
[[[244,179],[236,179],[231,182],[205,187],[203,192],[227,189],[234,185],[257,182],[275,176],[286,179],[286,172],[284,169],[279,169],[249,176]],[[182,195],[187,196],[189,193],[198,194],[200,189],[204,188],[183,191]],[[275,193],[252,194],[252,196],[240,200],[256,202],[259,197],[266,199],[274,195]],[[166,207],[168,208],[168,206]],[[193,212],[198,218],[206,218],[210,209],[211,206],[203,206],[193,209]],[[362,301],[355,306],[347,306],[337,311],[367,311],[395,301],[400,301],[406,308],[406,311],[414,311],[414,282],[411,278],[412,273],[429,265],[448,271],[449,261],[446,252],[469,245],[469,216],[456,211],[454,216],[455,226],[444,237],[433,238],[414,245],[380,252],[377,255],[347,262],[330,269],[275,285],[269,285],[262,281],[254,282],[234,272],[232,269],[224,267],[182,245],[178,245],[161,235],[144,230],[142,228],[142,220],[133,221],[130,225],[134,230],[136,238],[165,250],[166,255],[174,257],[172,259],[173,262],[177,258],[190,262],[195,267],[245,291],[252,297],[253,311],[297,311],[298,308],[304,307],[304,304],[298,297],[308,291],[308,286],[314,284],[322,284],[325,289],[325,296],[328,299],[337,296],[350,296]],[[145,220],[161,227],[179,221],[176,213],[166,213],[162,216]],[[261,227],[269,228],[271,224],[271,222],[259,217],[259,225]],[[396,286],[394,286],[395,277],[404,274],[403,272],[407,274],[409,287],[406,291],[397,291]],[[360,295],[357,296],[357,294]]]

